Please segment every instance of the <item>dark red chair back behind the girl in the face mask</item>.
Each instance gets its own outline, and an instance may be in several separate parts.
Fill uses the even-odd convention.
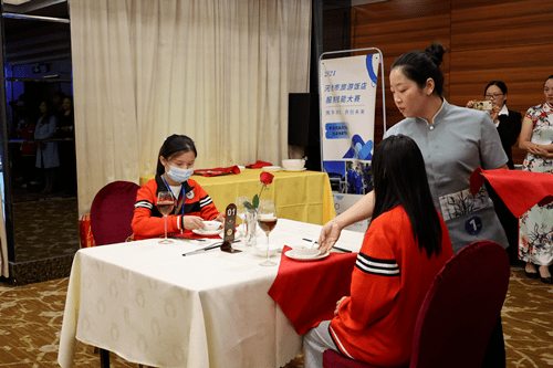
[[[140,187],[129,181],[114,181],[102,188],[91,207],[91,229],[96,245],[124,242],[133,234],[136,192]]]

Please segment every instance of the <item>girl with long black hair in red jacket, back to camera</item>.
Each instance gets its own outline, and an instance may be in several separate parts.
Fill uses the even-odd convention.
[[[306,368],[333,349],[378,367],[409,365],[418,311],[430,284],[453,255],[434,208],[417,144],[390,136],[373,157],[375,211],[352,274],[351,296],[335,317],[303,338]]]

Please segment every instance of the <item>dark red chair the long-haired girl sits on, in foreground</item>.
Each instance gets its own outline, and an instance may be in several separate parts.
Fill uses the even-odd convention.
[[[509,255],[491,241],[465,246],[434,280],[415,325],[409,368],[480,367],[501,313],[510,276]],[[334,350],[325,368],[375,368]]]

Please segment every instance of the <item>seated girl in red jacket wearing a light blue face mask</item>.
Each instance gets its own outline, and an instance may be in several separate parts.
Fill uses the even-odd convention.
[[[180,233],[184,229],[202,229],[204,220],[223,222],[222,213],[217,211],[211,197],[190,179],[196,156],[196,146],[189,137],[174,134],[165,139],[159,149],[155,179],[146,182],[136,193],[132,223],[135,240],[165,234],[164,218],[156,207],[159,191],[173,192],[177,203],[167,217],[168,234]]]

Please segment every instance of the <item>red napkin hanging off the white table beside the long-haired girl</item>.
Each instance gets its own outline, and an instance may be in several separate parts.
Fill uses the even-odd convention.
[[[269,295],[276,302],[300,335],[332,319],[336,302],[349,295],[352,272],[357,253],[331,253],[321,261],[300,262],[289,259],[284,246]]]

